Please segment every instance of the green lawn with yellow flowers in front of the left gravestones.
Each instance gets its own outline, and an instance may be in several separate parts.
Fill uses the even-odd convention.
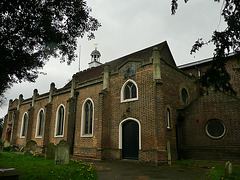
[[[2,152],[0,165],[20,171],[19,179],[97,179],[96,169],[82,161],[70,160],[66,165],[55,165],[45,157]]]

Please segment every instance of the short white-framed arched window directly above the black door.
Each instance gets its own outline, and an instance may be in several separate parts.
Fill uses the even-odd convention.
[[[121,102],[134,101],[138,99],[137,84],[133,80],[124,83],[121,90]]]

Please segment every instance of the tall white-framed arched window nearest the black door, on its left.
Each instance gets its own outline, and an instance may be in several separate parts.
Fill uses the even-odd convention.
[[[88,98],[84,101],[82,106],[82,123],[81,135],[82,137],[92,137],[93,135],[93,101]]]

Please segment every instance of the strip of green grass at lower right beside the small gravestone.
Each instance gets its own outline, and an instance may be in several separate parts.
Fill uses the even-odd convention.
[[[229,178],[224,178],[225,172],[225,163],[223,162],[205,162],[205,161],[190,161],[190,160],[181,160],[178,161],[179,165],[190,165],[190,166],[199,166],[199,167],[208,167],[210,169],[207,178],[210,180],[219,180],[219,179],[229,179],[237,180],[240,179],[240,165],[233,164],[233,174]]]

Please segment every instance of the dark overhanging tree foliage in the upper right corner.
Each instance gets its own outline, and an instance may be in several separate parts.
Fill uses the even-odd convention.
[[[184,0],[187,3],[189,0]],[[214,0],[220,2],[220,0]],[[177,0],[172,0],[172,14],[178,8]],[[223,0],[221,15],[226,22],[226,29],[223,31],[215,30],[212,38],[204,41],[199,38],[192,46],[190,53],[195,53],[203,45],[213,43],[215,45],[213,64],[209,70],[201,77],[200,82],[203,87],[214,87],[215,90],[236,94],[230,84],[230,75],[225,68],[225,60],[230,52],[239,53],[240,51],[240,1]]]

